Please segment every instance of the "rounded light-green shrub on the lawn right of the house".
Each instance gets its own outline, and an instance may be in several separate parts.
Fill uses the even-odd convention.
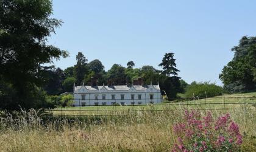
[[[185,97],[205,98],[205,92],[207,97],[214,97],[217,95],[222,95],[223,89],[221,86],[217,86],[215,83],[210,82],[191,83],[191,85],[186,89]]]

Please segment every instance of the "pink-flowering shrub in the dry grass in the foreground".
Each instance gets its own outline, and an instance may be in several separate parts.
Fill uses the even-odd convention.
[[[242,136],[229,114],[213,120],[212,113],[201,117],[198,111],[185,111],[184,122],[173,126],[177,143],[172,151],[238,151]]]

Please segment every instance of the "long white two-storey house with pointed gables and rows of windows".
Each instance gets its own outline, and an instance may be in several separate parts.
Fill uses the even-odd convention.
[[[159,85],[75,86],[74,106],[160,103]]]

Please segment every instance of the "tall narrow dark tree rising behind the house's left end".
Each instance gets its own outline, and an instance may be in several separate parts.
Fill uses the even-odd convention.
[[[78,52],[76,55],[77,63],[74,66],[74,76],[76,78],[76,84],[82,85],[85,74],[88,74],[87,58],[85,58],[82,52]]]

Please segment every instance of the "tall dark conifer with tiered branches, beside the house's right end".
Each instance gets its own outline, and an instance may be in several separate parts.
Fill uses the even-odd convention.
[[[176,59],[173,58],[174,53],[168,53],[165,54],[165,57],[163,57],[162,63],[160,63],[158,66],[163,67],[162,73],[170,77],[171,75],[177,76],[180,72],[178,69],[176,69]]]

